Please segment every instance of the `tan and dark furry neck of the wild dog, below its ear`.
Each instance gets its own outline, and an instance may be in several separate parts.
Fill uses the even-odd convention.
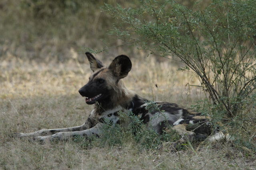
[[[128,90],[122,80],[116,84],[116,86],[110,90],[110,96],[104,100],[104,102],[95,104],[98,111],[106,111],[117,106],[128,107],[134,93]]]

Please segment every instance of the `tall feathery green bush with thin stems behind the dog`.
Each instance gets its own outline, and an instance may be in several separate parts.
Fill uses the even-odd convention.
[[[198,76],[213,121],[241,133],[237,141],[254,138],[252,126],[246,126],[248,120],[255,125],[254,0],[214,0],[205,9],[196,3],[188,9],[175,0],[145,0],[138,8],[105,4],[103,9],[116,18],[110,34],[125,44],[178,58],[186,64],[180,70]],[[237,127],[245,129],[234,131]]]

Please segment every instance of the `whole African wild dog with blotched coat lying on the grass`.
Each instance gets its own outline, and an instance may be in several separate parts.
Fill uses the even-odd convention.
[[[185,138],[190,139],[191,137],[206,138],[213,133],[211,124],[205,116],[177,104],[155,102],[163,111],[147,109],[148,100],[126,89],[121,80],[128,75],[132,68],[132,63],[126,55],[119,55],[108,67],[103,66],[91,53],[87,52],[86,56],[93,73],[89,82],[80,88],[79,93],[85,97],[86,104],[94,104],[94,109],[87,121],[77,127],[18,133],[19,137],[34,137],[40,141],[52,141],[54,139],[64,140],[76,135],[84,137],[100,135],[105,119],[109,119],[113,125],[122,123],[119,119],[119,111],[124,113],[132,111],[134,115],[140,117],[143,123],[151,125],[157,133],[162,133],[167,126],[172,125],[172,128],[182,136],[181,142],[184,142]],[[154,117],[156,114],[159,115]],[[192,129],[189,129],[188,125],[194,123],[200,125],[194,131],[190,131]],[[222,133],[217,132],[215,135],[211,135],[210,140],[220,137],[222,137]]]

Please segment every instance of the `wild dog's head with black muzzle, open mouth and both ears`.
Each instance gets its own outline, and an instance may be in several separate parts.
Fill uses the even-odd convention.
[[[116,57],[108,67],[96,59],[91,53],[85,53],[93,71],[89,82],[78,91],[81,96],[86,97],[87,104],[110,102],[118,88],[121,78],[127,76],[132,68],[132,63],[126,55]]]

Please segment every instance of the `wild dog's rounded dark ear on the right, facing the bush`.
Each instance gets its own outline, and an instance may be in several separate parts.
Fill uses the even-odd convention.
[[[126,55],[117,56],[108,67],[119,79],[127,76],[132,68],[132,62]]]

